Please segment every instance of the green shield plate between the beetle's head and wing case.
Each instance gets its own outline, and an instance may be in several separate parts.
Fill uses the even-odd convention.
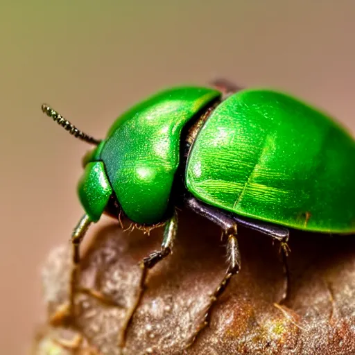
[[[207,87],[175,87],[135,105],[114,122],[92,159],[103,162],[132,221],[163,220],[180,164],[182,128],[219,97],[220,92]]]

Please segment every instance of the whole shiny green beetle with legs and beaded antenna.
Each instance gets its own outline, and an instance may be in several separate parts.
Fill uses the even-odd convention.
[[[96,145],[83,159],[78,184],[85,216],[72,236],[75,266],[80,241],[104,212],[141,227],[166,225],[161,250],[141,263],[142,285],[147,270],[171,253],[176,206],[222,227],[230,265],[191,341],[241,268],[237,225],[279,241],[284,260],[289,228],[355,232],[355,141],[327,114],[286,94],[239,89],[223,80],[167,89],[119,116],[102,141],[48,105],[42,110]],[[77,270],[71,275],[70,313]],[[288,280],[286,263],[284,272]]]

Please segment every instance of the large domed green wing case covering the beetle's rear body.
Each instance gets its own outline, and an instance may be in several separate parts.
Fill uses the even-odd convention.
[[[286,94],[246,89],[218,105],[191,148],[186,184],[241,216],[355,232],[355,141]]]

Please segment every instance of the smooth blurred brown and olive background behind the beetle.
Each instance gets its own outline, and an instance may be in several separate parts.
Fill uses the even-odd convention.
[[[355,1],[1,1],[0,354],[25,354],[44,316],[40,266],[82,211],[89,148],[53,105],[103,137],[168,85],[225,77],[284,89],[355,134]]]

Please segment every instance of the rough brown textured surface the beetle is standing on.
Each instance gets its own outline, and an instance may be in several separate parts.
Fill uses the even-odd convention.
[[[73,326],[83,336],[83,354],[185,354],[208,294],[225,270],[218,227],[186,212],[180,213],[173,255],[150,272],[125,349],[117,346],[125,309],[135,300],[137,263],[159,246],[161,233],[122,233],[114,222],[98,230],[84,258],[81,283],[109,295],[117,306],[78,295]],[[284,307],[275,304],[283,286],[278,246],[242,228],[239,243],[242,270],[186,354],[355,354],[354,236],[291,234],[291,297]],[[66,297],[67,255],[67,247],[53,250],[44,268],[50,313]],[[45,334],[58,341],[61,332],[59,327]],[[40,344],[48,342],[42,338]]]

